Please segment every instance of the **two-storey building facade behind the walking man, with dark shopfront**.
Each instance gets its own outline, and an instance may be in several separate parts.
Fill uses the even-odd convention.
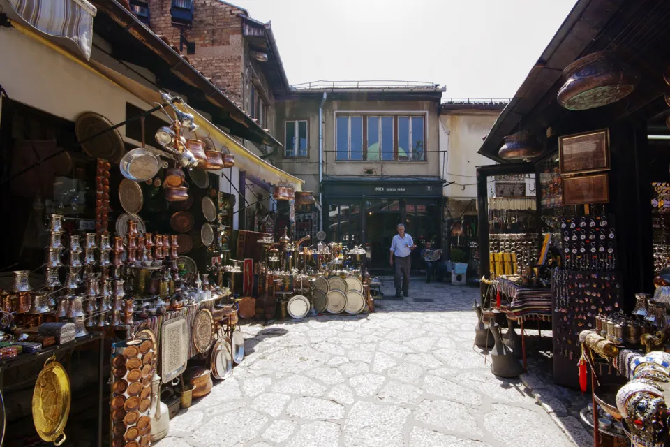
[[[320,199],[327,240],[364,245],[373,268],[388,266],[397,223],[416,238],[441,241],[442,91],[317,83],[276,101],[284,149],[274,162]]]

